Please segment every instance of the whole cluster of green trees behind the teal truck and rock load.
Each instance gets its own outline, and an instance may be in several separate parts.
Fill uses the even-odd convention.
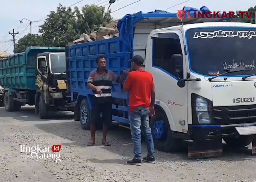
[[[90,34],[112,21],[108,13],[104,6],[85,5],[80,13],[77,7],[72,11],[70,7],[59,4],[57,11],[51,11],[45,23],[39,26],[40,36],[32,35],[32,45],[65,46],[78,39],[82,33]],[[14,51],[23,52],[30,45],[30,36],[25,35],[16,44]]]

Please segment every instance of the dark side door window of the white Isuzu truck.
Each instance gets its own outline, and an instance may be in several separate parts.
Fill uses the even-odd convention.
[[[153,38],[153,66],[160,68],[177,78],[175,73],[175,62],[171,59],[173,54],[181,54],[181,44],[177,34],[175,36],[163,36],[164,38]]]

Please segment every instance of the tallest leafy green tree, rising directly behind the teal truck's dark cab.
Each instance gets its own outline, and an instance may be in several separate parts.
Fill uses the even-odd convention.
[[[39,33],[48,46],[65,46],[79,36],[74,30],[75,13],[70,7],[59,4],[57,12],[51,11],[45,23],[40,26]]]

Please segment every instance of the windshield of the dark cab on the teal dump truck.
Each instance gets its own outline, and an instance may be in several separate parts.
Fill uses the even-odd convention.
[[[66,71],[65,54],[50,54],[52,73],[63,73]]]

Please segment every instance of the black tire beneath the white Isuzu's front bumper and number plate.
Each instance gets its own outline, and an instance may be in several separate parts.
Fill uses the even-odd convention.
[[[244,136],[239,136],[239,138],[225,137],[225,138],[223,138],[223,140],[230,147],[246,147],[247,145],[252,143],[253,136],[244,135]]]

